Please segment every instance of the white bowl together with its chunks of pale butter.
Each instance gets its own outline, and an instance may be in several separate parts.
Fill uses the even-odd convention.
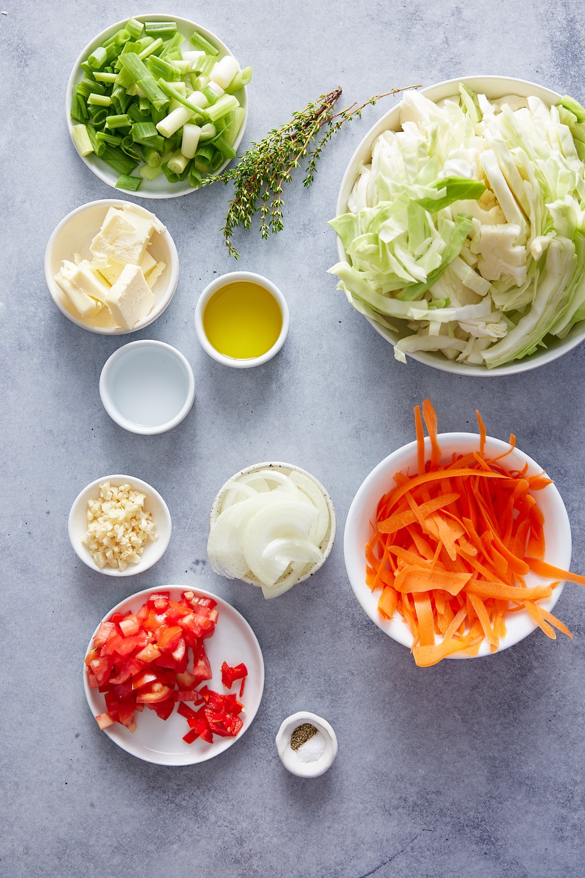
[[[118,198],[68,213],[45,252],[48,291],[89,332],[125,335],[168,306],[179,279],[175,242],[153,213]]]

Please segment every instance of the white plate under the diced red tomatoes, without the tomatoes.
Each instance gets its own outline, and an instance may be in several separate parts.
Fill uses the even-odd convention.
[[[120,723],[114,723],[114,725],[104,729],[103,733],[111,738],[118,747],[122,747],[126,752],[132,753],[132,756],[138,756],[139,759],[144,759],[146,762],[154,762],[161,766],[196,765],[197,762],[205,762],[206,759],[213,759],[214,756],[223,753],[249,729],[260,707],[264,690],[264,660],[256,635],[244,616],[231,604],[219,598],[217,594],[205,592],[201,588],[189,588],[189,586],[145,588],[144,591],[132,594],[129,598],[118,603],[103,617],[102,621],[108,620],[113,613],[138,612],[139,608],[146,602],[148,595],[153,594],[154,591],[170,592],[172,601],[178,601],[185,591],[193,591],[197,595],[212,598],[217,602],[218,623],[213,635],[205,640],[205,651],[210,660],[213,679],[207,680],[205,685],[222,694],[226,693],[228,690],[221,683],[222,662],[226,661],[230,666],[244,662],[248,670],[246,686],[241,699],[246,708],[246,713],[242,713],[240,716],[244,727],[235,738],[214,736],[212,744],[207,744],[201,738],[197,738],[193,744],[185,744],[182,736],[189,731],[189,725],[184,716],[178,714],[175,709],[165,721],[161,720],[153,710],[145,708],[142,713],[136,715],[137,728],[133,733]],[[89,641],[86,655],[93,648],[93,638],[98,628],[99,625]],[[103,694],[100,694],[97,689],[89,688],[85,669],[83,670],[83,687],[93,716],[103,713],[105,710]],[[233,691],[237,693],[239,690],[234,689]],[[189,705],[189,707],[191,706]],[[99,731],[97,723],[96,730]]]

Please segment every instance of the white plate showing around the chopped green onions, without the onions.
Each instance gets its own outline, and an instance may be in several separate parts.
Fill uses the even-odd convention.
[[[75,122],[73,121],[73,119],[71,119],[71,95],[73,92],[74,84],[81,82],[83,78],[83,70],[81,67],[82,61],[85,61],[88,55],[94,51],[94,49],[96,49],[98,46],[101,46],[103,44],[103,40],[107,40],[114,33],[124,27],[125,23],[128,21],[128,18],[124,18],[122,21],[118,21],[116,25],[106,27],[104,31],[98,33],[97,36],[94,37],[94,39],[91,40],[88,45],[83,49],[77,61],[75,61],[73,70],[71,71],[71,76],[69,76],[69,81],[67,83],[67,92],[65,96],[65,117],[67,119],[69,136],[71,136],[72,128],[75,125]],[[133,18],[136,18],[138,21],[142,22],[175,21],[177,25],[177,31],[181,32],[186,40],[189,40],[189,37],[191,33],[193,33],[193,31],[198,31],[199,33],[201,33],[202,37],[205,38],[205,40],[208,40],[210,43],[212,43],[212,45],[218,48],[218,60],[225,57],[225,55],[232,54],[232,52],[230,52],[225,43],[222,42],[222,40],[220,40],[218,37],[216,37],[214,33],[211,33],[201,25],[196,25],[193,21],[189,21],[189,18],[179,18],[176,15],[135,15],[133,16]],[[239,61],[239,59],[236,60]],[[239,129],[238,137],[233,144],[233,148],[237,152],[242,137],[244,136],[246,121],[248,118],[246,86],[236,92],[236,97],[239,100],[239,105],[243,107],[244,111],[246,112],[242,126]],[[76,148],[75,152],[77,152]],[[79,153],[77,155],[79,155]],[[102,162],[101,159],[99,159],[94,153],[89,153],[89,155],[80,155],[80,158],[82,159],[82,162],[85,162],[89,170],[93,171],[93,173],[98,176],[100,180],[103,180],[103,183],[107,183],[109,186],[112,187],[116,186],[119,174],[117,171],[111,168],[110,165]],[[214,171],[214,173],[221,174],[221,172],[225,168],[227,168],[228,164],[231,161],[232,159],[226,160],[218,168],[217,171]],[[135,172],[132,171],[132,174],[134,173]],[[131,192],[130,194],[132,194],[135,198],[177,198],[179,195],[188,195],[189,192],[196,192],[196,189],[194,189],[188,181],[183,180],[179,183],[169,183],[167,177],[164,174],[160,174],[154,180],[143,180],[140,184],[140,188],[136,191]]]

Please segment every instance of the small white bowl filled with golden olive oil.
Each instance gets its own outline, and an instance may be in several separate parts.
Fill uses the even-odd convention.
[[[207,286],[195,311],[203,350],[218,363],[247,369],[266,363],[282,348],[289,331],[289,308],[266,277],[232,271]]]

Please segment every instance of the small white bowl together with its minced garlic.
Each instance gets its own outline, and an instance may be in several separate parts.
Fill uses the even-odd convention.
[[[142,479],[103,476],[75,498],[68,531],[83,564],[106,576],[133,576],[164,555],[171,516],[161,494]]]

